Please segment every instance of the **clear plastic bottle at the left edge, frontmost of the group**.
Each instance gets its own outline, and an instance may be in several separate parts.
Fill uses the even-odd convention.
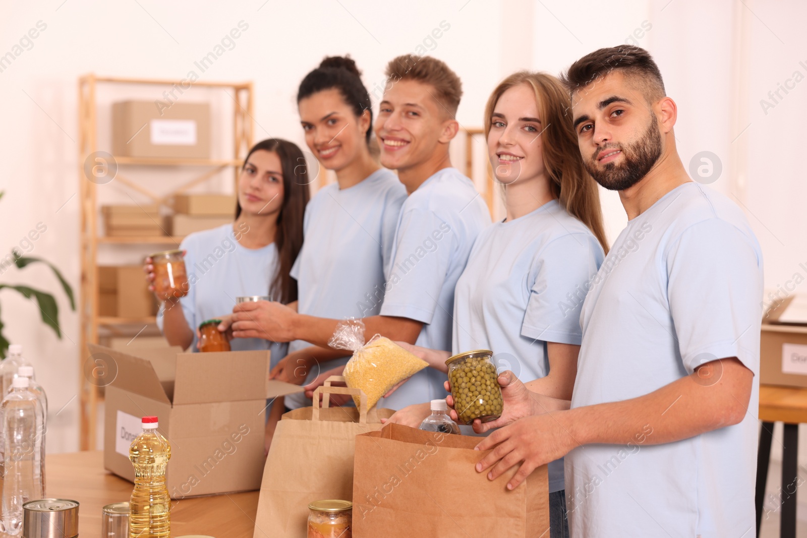
[[[23,504],[43,497],[41,437],[43,413],[36,394],[28,391],[28,378],[16,377],[10,394],[0,404],[6,447],[2,482],[2,530],[11,536],[23,531]]]

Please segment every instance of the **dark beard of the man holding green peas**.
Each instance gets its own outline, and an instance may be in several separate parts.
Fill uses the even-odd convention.
[[[597,156],[619,149],[625,157],[621,165],[608,163],[601,168],[596,166]],[[608,190],[625,190],[636,185],[645,177],[661,156],[661,131],[655,116],[650,116],[650,125],[642,137],[629,146],[606,144],[584,161],[588,173],[594,180]]]

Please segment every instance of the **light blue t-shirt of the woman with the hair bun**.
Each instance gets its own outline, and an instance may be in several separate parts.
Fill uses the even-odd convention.
[[[395,238],[398,214],[406,189],[395,173],[379,169],[360,183],[340,189],[324,186],[305,210],[303,248],[291,268],[297,280],[300,314],[320,318],[363,318],[381,308],[384,265]],[[303,340],[289,344],[289,352],[310,346]],[[312,368],[307,381],[344,365],[349,357]],[[311,405],[303,394],[285,398],[286,407]]]

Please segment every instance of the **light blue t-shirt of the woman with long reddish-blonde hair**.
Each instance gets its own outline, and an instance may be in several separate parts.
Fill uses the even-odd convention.
[[[546,343],[580,344],[583,287],[600,269],[596,237],[558,203],[493,223],[476,240],[454,297],[451,352],[490,349],[523,382],[549,373]],[[563,461],[549,465],[563,489]]]

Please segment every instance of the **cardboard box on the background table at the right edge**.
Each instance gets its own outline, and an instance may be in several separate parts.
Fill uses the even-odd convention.
[[[788,311],[803,298],[788,297],[768,309],[759,340],[759,382],[764,385],[807,387],[807,322]]]

